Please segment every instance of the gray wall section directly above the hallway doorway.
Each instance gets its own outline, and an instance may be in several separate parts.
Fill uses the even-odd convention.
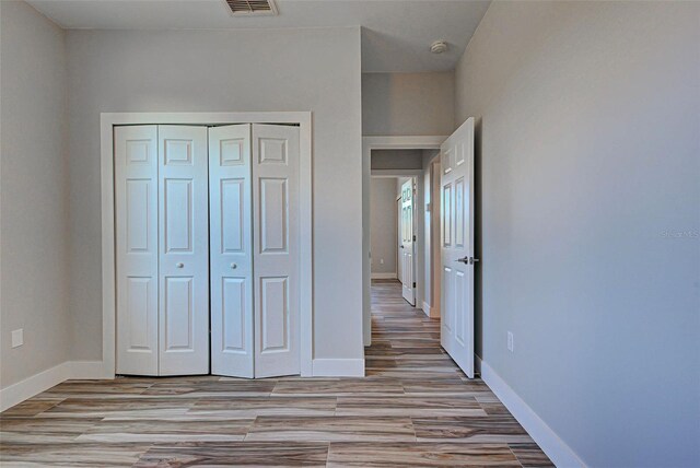
[[[363,73],[362,134],[450,134],[454,72]]]

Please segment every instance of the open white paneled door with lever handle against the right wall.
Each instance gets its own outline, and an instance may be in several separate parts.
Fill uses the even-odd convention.
[[[440,341],[474,378],[474,117],[441,147]]]

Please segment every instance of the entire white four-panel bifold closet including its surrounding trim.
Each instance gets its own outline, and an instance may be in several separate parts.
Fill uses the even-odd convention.
[[[312,375],[311,113],[101,127],[105,377]]]

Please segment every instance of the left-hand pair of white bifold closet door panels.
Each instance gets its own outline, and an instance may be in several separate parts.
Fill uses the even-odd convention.
[[[115,128],[118,374],[209,372],[207,128]]]

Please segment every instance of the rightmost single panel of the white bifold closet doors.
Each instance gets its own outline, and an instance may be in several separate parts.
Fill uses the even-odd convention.
[[[299,127],[253,125],[255,376],[299,374]]]

